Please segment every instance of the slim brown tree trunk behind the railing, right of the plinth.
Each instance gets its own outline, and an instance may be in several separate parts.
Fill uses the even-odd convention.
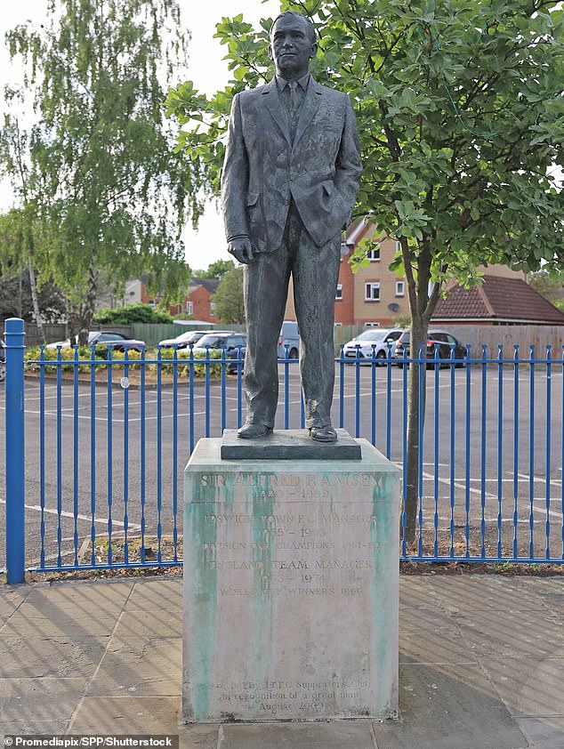
[[[422,318],[414,318],[411,323],[409,343],[409,357],[419,358],[423,346],[423,356],[426,356],[428,324]],[[417,508],[419,506],[419,431],[420,423],[425,417],[425,375],[426,366],[412,364],[409,367],[407,381],[407,454],[406,454],[406,486],[405,486],[405,541],[408,545],[415,543],[417,534]],[[420,391],[423,388],[423,408],[420,408]]]

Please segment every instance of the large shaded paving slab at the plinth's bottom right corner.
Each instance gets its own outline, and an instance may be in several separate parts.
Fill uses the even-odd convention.
[[[380,749],[528,749],[477,664],[400,666],[399,710],[374,724]]]

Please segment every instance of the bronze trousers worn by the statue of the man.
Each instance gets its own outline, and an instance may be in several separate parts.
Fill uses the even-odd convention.
[[[247,423],[274,426],[278,405],[278,335],[290,275],[300,331],[300,374],[308,428],[331,423],[334,388],[334,297],[341,234],[318,247],[292,201],[282,244],[255,255],[244,269]]]

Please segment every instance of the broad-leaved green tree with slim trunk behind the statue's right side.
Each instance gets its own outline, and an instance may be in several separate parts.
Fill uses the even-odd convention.
[[[391,264],[407,282],[411,351],[425,350],[429,321],[448,278],[479,281],[479,264],[536,270],[562,262],[564,35],[552,0],[303,0],[320,32],[311,71],[350,93],[365,171],[357,216],[399,240]],[[217,190],[223,133],[235,93],[271,77],[270,20],[223,19],[234,80],[211,99],[191,82],[169,93],[168,113]],[[207,128],[198,127],[205,122]],[[192,125],[192,129],[189,128]],[[194,126],[196,125],[196,126]],[[368,247],[354,258],[361,262]],[[415,540],[419,391],[409,374],[406,528]]]

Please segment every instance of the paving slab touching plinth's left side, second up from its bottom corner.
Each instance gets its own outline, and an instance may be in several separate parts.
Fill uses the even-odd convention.
[[[112,638],[88,689],[90,697],[177,697],[182,641]]]

